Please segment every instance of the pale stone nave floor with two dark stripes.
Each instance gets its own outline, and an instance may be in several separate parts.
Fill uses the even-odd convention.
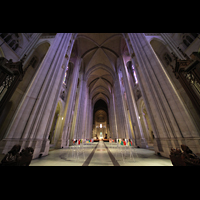
[[[126,151],[123,159],[116,144],[103,141],[85,145],[84,155],[83,149],[80,149],[78,158],[72,152],[76,153],[69,149],[51,150],[48,156],[32,160],[30,166],[172,166],[170,159],[142,148],[134,149],[135,154],[131,158]]]

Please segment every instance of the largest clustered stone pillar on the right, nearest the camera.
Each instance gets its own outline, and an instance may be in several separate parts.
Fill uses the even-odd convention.
[[[171,147],[185,143],[198,152],[198,129],[163,72],[145,35],[131,33],[128,36],[132,62],[155,135],[155,151],[169,157]]]

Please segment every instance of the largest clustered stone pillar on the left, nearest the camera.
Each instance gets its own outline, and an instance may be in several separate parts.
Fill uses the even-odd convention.
[[[7,153],[14,144],[21,144],[22,148],[34,148],[33,158],[48,154],[48,136],[63,81],[62,64],[70,40],[70,33],[56,35],[13,117],[6,137],[0,142],[3,153]]]

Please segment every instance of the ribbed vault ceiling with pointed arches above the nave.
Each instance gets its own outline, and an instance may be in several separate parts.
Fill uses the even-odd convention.
[[[93,105],[99,99],[109,103],[117,58],[124,48],[121,33],[79,33],[78,55],[83,59],[87,85]]]

